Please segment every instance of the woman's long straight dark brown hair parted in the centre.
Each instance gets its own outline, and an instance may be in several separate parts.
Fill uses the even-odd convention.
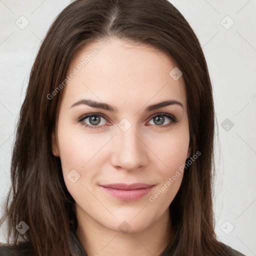
[[[159,49],[182,71],[191,155],[169,206],[174,238],[161,256],[231,255],[217,240],[212,210],[214,108],[207,64],[192,28],[167,0],[75,0],[56,17],[41,43],[21,106],[5,202],[7,244],[27,241],[35,255],[81,255],[70,230],[77,220],[59,157],[51,152],[68,65],[81,47],[110,36]],[[24,221],[28,231],[15,228]],[[80,251],[81,253],[81,251]],[[160,252],[159,252],[160,253]]]

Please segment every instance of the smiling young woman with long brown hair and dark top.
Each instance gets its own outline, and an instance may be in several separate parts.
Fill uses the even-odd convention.
[[[2,254],[242,255],[214,233],[213,133],[205,58],[171,3],[73,1],[31,70]]]

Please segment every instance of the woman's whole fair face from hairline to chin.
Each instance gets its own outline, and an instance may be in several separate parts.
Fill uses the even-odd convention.
[[[164,53],[114,37],[72,59],[52,152],[80,219],[135,232],[168,215],[189,155],[185,85],[174,67]]]

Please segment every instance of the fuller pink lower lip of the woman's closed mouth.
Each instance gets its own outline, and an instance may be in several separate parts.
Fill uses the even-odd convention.
[[[119,200],[134,201],[148,194],[150,190],[153,188],[153,186],[146,187],[146,188],[131,189],[131,190],[115,189],[115,188],[104,187],[104,186],[101,186],[101,187],[108,194],[118,198]]]

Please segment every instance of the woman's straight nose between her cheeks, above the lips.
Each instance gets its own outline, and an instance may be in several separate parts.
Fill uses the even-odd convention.
[[[118,127],[112,148],[111,164],[115,168],[132,171],[144,167],[148,162],[149,149],[135,125],[131,125],[126,131]]]

